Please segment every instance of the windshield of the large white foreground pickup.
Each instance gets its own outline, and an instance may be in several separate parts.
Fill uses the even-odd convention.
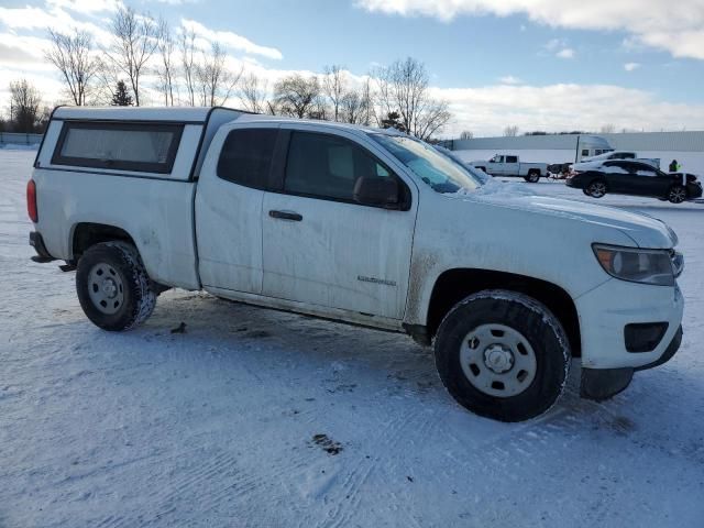
[[[370,134],[437,193],[474,190],[483,182],[463,165],[422,141],[404,135]]]

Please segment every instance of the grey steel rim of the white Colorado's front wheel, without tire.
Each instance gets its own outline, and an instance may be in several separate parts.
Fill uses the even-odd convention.
[[[479,391],[508,398],[526,391],[536,377],[536,353],[519,331],[504,324],[471,330],[460,350],[462,372]]]

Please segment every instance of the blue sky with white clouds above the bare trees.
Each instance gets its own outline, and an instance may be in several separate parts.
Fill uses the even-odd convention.
[[[58,78],[41,53],[46,25],[85,24],[99,41],[116,3],[3,0],[0,100],[9,80],[25,75],[57,102],[51,99]],[[359,78],[375,65],[419,58],[435,94],[455,114],[446,135],[498,133],[506,124],[522,131],[704,129],[702,0],[128,3],[176,29],[198,24],[204,38],[222,38],[233,64],[272,81],[330,64]]]

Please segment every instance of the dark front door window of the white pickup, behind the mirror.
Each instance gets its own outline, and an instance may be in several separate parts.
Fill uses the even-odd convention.
[[[284,190],[294,195],[354,201],[359,177],[392,177],[388,168],[342,138],[294,132],[288,145]]]

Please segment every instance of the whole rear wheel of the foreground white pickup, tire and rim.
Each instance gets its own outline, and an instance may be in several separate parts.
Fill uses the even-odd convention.
[[[103,287],[109,287],[109,294]],[[156,293],[142,260],[136,249],[125,242],[103,242],[89,248],[78,261],[76,292],[88,319],[109,331],[141,324],[156,305]],[[108,298],[110,294],[114,296]],[[103,298],[99,299],[100,296]]]

